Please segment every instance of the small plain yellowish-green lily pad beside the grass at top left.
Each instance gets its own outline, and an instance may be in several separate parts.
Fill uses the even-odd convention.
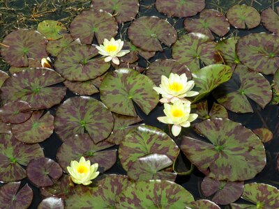
[[[62,38],[61,33],[67,33],[66,26],[55,20],[44,20],[38,24],[37,30],[47,38],[47,40],[57,40]]]

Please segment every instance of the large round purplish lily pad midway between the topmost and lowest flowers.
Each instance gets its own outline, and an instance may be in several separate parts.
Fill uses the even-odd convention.
[[[106,139],[114,125],[112,113],[105,104],[90,97],[69,98],[56,110],[54,127],[62,141],[88,132],[98,143]]]

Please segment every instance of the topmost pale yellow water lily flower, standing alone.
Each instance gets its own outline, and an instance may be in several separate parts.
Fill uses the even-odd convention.
[[[103,45],[97,46],[96,48],[99,50],[99,54],[106,56],[105,62],[112,61],[114,64],[119,65],[120,61],[118,57],[130,52],[129,50],[121,50],[123,45],[124,42],[121,39],[114,40],[114,38],[111,38],[107,40],[105,38]]]

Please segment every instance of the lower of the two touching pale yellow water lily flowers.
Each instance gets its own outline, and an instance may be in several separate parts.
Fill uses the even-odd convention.
[[[189,127],[190,122],[195,121],[197,114],[190,114],[191,102],[175,100],[174,104],[164,104],[164,113],[166,116],[158,117],[158,121],[172,125],[172,134],[174,137],[181,132],[181,127]]]

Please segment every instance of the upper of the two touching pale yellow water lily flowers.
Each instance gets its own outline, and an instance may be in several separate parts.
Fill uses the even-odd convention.
[[[160,87],[153,87],[155,91],[162,95],[162,99],[160,102],[174,103],[175,100],[181,100],[186,102],[186,97],[193,97],[198,95],[197,91],[190,91],[195,86],[194,81],[187,82],[186,74],[177,75],[174,73],[170,73],[169,79],[162,75]]]

